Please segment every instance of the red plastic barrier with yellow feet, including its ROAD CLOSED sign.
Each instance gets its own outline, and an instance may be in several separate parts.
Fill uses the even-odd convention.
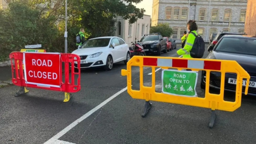
[[[21,86],[15,94],[16,97],[27,93],[26,87],[34,87],[65,92],[64,102],[68,102],[70,93],[78,92],[81,89],[79,65],[81,59],[77,54],[12,52],[9,57],[12,66],[12,83]],[[65,77],[62,77],[63,62],[65,63]],[[75,63],[78,63],[78,73],[74,71]],[[71,67],[71,73],[69,67]],[[78,76],[77,84],[75,84],[75,75]]]

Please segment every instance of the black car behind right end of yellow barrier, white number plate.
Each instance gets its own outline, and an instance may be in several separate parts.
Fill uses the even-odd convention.
[[[249,95],[256,96],[256,37],[246,35],[225,35],[206,59],[235,60],[251,76]],[[202,71],[201,88],[205,89],[206,72]],[[236,91],[236,74],[225,74],[225,90]],[[221,74],[211,71],[210,87],[220,89]],[[244,79],[245,80],[245,79]],[[243,83],[245,86],[245,81]],[[243,87],[244,93],[245,87]]]

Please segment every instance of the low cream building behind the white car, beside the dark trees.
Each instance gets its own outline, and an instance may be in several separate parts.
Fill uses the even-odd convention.
[[[138,19],[129,25],[129,20],[124,20],[123,17],[118,16],[115,36],[123,38],[125,43],[129,45],[135,39],[139,41],[143,35],[149,34],[150,18],[150,15],[143,15],[143,19]]]

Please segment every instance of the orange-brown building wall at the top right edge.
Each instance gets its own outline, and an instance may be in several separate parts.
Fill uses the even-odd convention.
[[[247,35],[256,36],[256,1],[248,0],[246,19],[245,19],[245,33]]]

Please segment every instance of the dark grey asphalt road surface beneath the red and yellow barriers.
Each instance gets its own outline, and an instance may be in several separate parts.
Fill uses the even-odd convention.
[[[176,51],[161,56],[178,57]],[[19,87],[0,89],[0,143],[255,143],[255,97],[243,95],[242,106],[234,112],[217,111],[213,129],[208,127],[211,110],[205,108],[153,102],[142,118],[145,101],[127,94],[121,69],[126,69],[123,62],[111,71],[83,70],[82,89],[67,103],[62,92],[29,88],[26,95],[14,97]],[[150,85],[149,73],[150,68],[144,70],[145,85]],[[156,91],[161,89],[159,76],[161,70]],[[138,68],[132,81],[137,89]],[[199,83],[197,93],[204,97]],[[225,93],[227,99],[233,95]]]

